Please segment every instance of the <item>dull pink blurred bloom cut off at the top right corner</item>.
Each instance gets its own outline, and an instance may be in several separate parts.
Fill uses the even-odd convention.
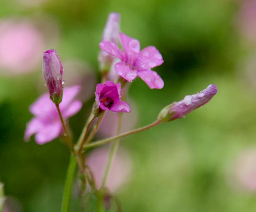
[[[241,1],[238,27],[248,41],[256,44],[256,0]]]

